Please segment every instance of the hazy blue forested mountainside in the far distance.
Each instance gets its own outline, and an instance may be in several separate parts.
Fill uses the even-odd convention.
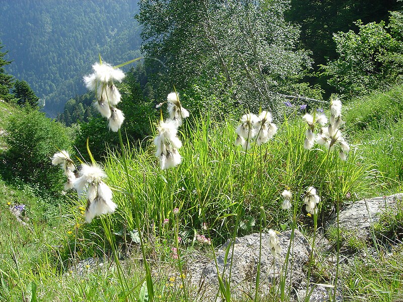
[[[55,116],[85,92],[83,75],[100,53],[118,64],[140,56],[140,28],[132,0],[19,0],[2,2],[0,40],[6,67],[29,83]]]

